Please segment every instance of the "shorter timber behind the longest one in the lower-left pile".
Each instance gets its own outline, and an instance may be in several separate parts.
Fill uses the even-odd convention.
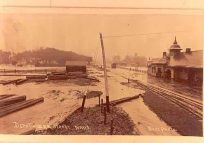
[[[26,96],[17,96],[9,99],[3,99],[3,100],[0,100],[0,107],[25,101],[25,100],[26,100]]]

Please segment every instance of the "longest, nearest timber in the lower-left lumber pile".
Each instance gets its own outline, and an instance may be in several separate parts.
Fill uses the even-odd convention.
[[[28,108],[30,106],[33,106],[33,105],[40,103],[40,102],[43,102],[43,101],[44,101],[44,98],[41,97],[38,99],[30,99],[30,100],[27,100],[24,102],[20,102],[19,104],[11,105],[7,108],[0,110],[0,117],[6,116],[10,113],[19,111],[19,110],[24,109],[24,108]]]

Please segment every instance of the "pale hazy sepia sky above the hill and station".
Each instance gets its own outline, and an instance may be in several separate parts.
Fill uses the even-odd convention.
[[[56,6],[65,5],[62,0],[60,1],[61,5],[55,3]],[[89,5],[86,3],[82,5],[72,3],[72,5],[101,6],[98,5],[99,3],[89,1]],[[52,2],[54,5],[55,1]],[[128,7],[133,1],[128,2],[117,3],[117,6]],[[10,0],[7,5],[9,4],[19,3],[12,3]],[[26,4],[38,5],[39,3]],[[41,4],[46,5],[46,3]],[[145,6],[142,3],[137,4]],[[202,8],[202,5],[191,7],[192,5],[184,1],[183,4],[185,4],[184,8]],[[102,3],[102,6],[113,5]],[[149,3],[147,7],[149,6],[157,5]],[[115,55],[124,57],[134,53],[146,57],[161,57],[162,52],[167,51],[171,46],[175,36],[183,49],[201,50],[204,46],[204,15],[202,12],[195,14],[195,10],[187,13],[183,11],[175,13],[175,10],[171,12],[160,10],[152,13],[148,10],[127,12],[127,10],[108,9],[110,11],[103,10],[106,13],[101,13],[100,9],[94,9],[94,12],[93,10],[79,12],[79,9],[70,12],[61,8],[33,10],[4,7],[3,9],[0,12],[0,49],[7,51],[21,52],[39,47],[54,47],[97,59],[101,57],[100,32],[104,36],[105,51],[109,59]],[[39,12],[42,9],[44,11]]]

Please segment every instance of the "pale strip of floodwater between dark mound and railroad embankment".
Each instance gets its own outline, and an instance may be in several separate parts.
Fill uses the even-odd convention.
[[[160,120],[157,115],[144,104],[141,97],[137,100],[121,104],[120,107],[129,114],[136,125],[136,132],[140,135],[179,135],[176,130]]]

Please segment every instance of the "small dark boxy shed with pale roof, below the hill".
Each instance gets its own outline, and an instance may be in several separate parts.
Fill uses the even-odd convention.
[[[66,61],[66,72],[86,73],[87,61]]]

